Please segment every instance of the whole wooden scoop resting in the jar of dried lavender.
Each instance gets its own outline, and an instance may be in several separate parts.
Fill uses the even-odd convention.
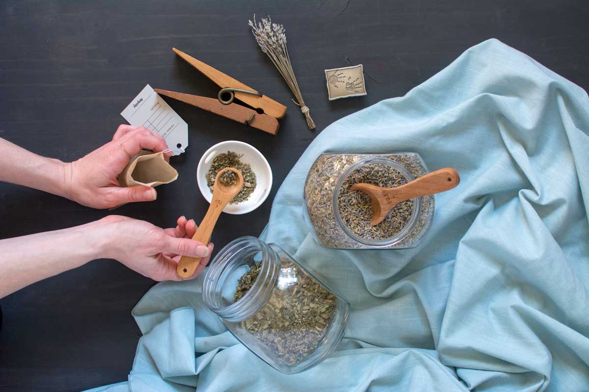
[[[370,225],[376,226],[382,222],[389,211],[397,203],[403,200],[434,195],[435,193],[450,190],[460,182],[456,170],[451,167],[439,169],[435,172],[421,176],[405,185],[393,188],[381,188],[380,186],[358,183],[350,186],[350,190],[360,190],[372,199],[374,213]]]

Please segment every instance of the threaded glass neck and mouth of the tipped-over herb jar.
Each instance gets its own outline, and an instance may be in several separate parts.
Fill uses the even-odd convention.
[[[206,306],[229,321],[251,317],[270,297],[269,288],[278,277],[279,267],[269,260],[276,257],[274,251],[256,237],[240,237],[227,244],[204,277],[203,301]],[[256,262],[262,262],[256,281],[243,297],[234,302],[237,278]]]

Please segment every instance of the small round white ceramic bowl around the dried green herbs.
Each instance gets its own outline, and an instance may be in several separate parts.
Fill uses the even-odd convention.
[[[256,174],[256,189],[252,192],[248,200],[237,204],[228,204],[223,209],[223,212],[236,215],[251,212],[259,207],[266,200],[266,197],[268,197],[272,188],[272,170],[262,153],[247,143],[227,140],[227,142],[217,143],[204,153],[196,169],[200,193],[207,199],[207,202],[211,202],[213,193],[207,185],[206,174],[209,172],[213,159],[217,155],[226,153],[227,151],[233,151],[239,155],[243,155],[240,159],[241,162],[249,163],[252,166],[252,171]]]

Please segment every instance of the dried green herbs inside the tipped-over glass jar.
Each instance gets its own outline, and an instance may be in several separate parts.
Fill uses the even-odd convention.
[[[260,268],[261,262],[253,264],[238,280],[236,301],[252,287]],[[242,321],[242,326],[279,360],[294,366],[313,353],[323,339],[337,298],[288,259],[281,260],[280,276],[292,284],[277,284],[266,304]]]

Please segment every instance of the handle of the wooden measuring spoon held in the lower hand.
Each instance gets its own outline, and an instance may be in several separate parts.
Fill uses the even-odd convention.
[[[219,192],[215,187],[209,209],[203,218],[203,222],[200,222],[200,225],[198,225],[198,229],[196,229],[196,233],[194,233],[194,236],[192,237],[193,240],[201,242],[204,245],[209,243],[217,219],[219,219],[225,206],[231,201],[231,199],[233,199],[233,196],[235,196],[234,193]],[[180,262],[178,262],[176,273],[181,279],[188,279],[193,276],[195,272],[200,273],[205,267],[204,264],[200,263],[201,259],[201,257],[182,256]]]

